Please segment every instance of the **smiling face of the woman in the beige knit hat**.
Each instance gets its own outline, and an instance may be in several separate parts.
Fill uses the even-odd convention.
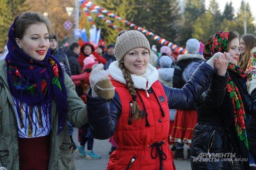
[[[131,73],[141,75],[148,67],[149,52],[145,48],[135,48],[124,56],[124,66]]]

